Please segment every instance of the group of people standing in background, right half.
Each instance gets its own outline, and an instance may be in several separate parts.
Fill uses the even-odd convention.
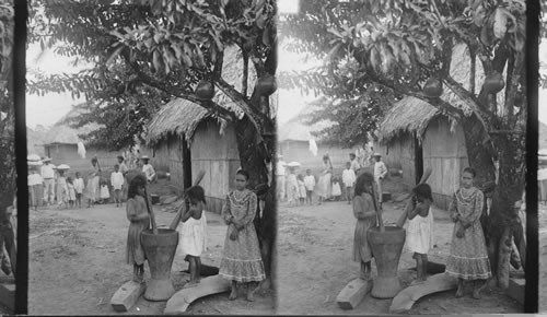
[[[366,160],[359,158],[356,153],[349,153],[349,161],[345,163],[346,168],[341,175],[334,174],[328,154],[323,156],[323,169],[318,176],[313,175],[311,168],[305,169],[305,175],[296,174],[299,167],[288,166],[282,158],[282,155],[278,155],[276,164],[278,200],[288,201],[289,206],[313,204],[314,193],[318,197],[318,204],[340,200],[347,200],[350,204],[357,177],[366,168],[372,166],[379,192],[382,192],[382,180],[387,175],[380,153],[374,153]],[[381,196],[379,199],[382,202]]]

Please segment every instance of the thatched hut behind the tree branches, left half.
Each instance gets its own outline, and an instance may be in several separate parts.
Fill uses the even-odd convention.
[[[241,91],[243,61],[236,47],[224,50],[222,74],[226,82]],[[249,64],[247,91],[252,92],[256,72]],[[236,118],[243,111],[223,92],[217,90],[213,101],[232,111]],[[276,95],[270,96],[275,106]],[[206,172],[203,187],[209,211],[219,212],[226,195],[235,189],[235,173],[241,166],[234,122],[186,99],[175,98],[163,106],[148,126],[147,144],[153,156],[165,164],[172,183],[183,190],[194,183],[197,173]]]

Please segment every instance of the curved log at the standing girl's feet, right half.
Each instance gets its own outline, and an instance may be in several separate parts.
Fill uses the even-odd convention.
[[[411,285],[400,291],[393,298],[389,307],[391,314],[406,313],[412,308],[412,305],[426,295],[433,293],[445,292],[457,287],[457,279],[445,273],[440,273],[428,278],[421,284]]]

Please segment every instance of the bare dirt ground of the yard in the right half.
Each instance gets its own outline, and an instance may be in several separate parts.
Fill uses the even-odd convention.
[[[403,203],[384,203],[384,221],[395,223],[403,208]],[[444,263],[450,251],[453,224],[447,212],[433,210],[433,214],[437,247],[430,251],[429,259]],[[305,207],[280,204],[278,314],[388,313],[391,300],[375,300],[370,295],[352,310],[342,310],[336,304],[338,293],[359,272],[359,263],[351,258],[354,225],[352,209],[346,201]],[[411,255],[404,249],[399,261],[399,277],[404,286],[415,275],[403,269],[415,265]],[[454,292],[426,296],[415,304],[409,314],[511,314],[523,309],[522,305],[498,289],[485,290],[481,301],[473,300],[470,295],[455,298]]]

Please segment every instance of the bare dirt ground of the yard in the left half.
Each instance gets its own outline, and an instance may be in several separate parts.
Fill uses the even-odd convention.
[[[155,207],[159,227],[167,226],[175,213]],[[205,265],[219,266],[226,227],[218,214],[207,213],[208,251]],[[30,214],[28,314],[100,315],[116,314],[109,301],[116,290],[132,277],[125,263],[128,221],[126,210],[114,204],[91,209],[38,210]],[[187,262],[178,254],[172,268],[175,290],[189,275],[181,271]],[[150,277],[146,267],[146,279]],[[241,292],[244,292],[241,290]],[[272,291],[260,291],[254,303],[243,298],[228,301],[228,293],[202,297],[188,314],[263,315],[274,314]],[[141,300],[128,314],[163,314],[166,302]]]

